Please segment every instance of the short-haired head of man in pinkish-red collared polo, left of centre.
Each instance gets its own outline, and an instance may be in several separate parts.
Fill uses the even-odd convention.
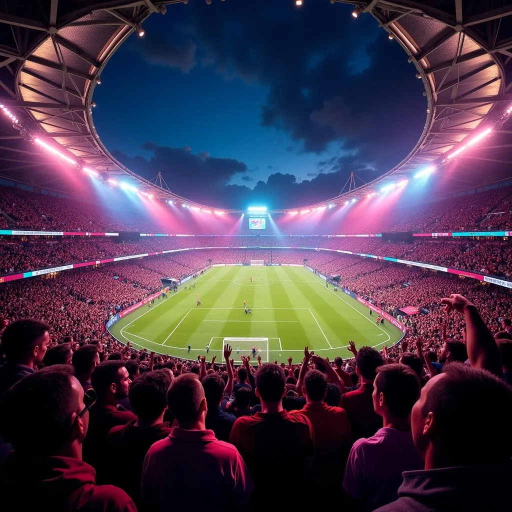
[[[171,383],[167,392],[167,406],[180,425],[187,424],[198,419],[204,397],[204,389],[197,376],[185,373]]]

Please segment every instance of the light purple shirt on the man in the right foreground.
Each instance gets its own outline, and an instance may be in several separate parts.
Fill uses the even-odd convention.
[[[375,510],[397,499],[403,471],[423,469],[410,431],[382,428],[359,439],[350,451],[343,488],[362,500],[362,510]]]

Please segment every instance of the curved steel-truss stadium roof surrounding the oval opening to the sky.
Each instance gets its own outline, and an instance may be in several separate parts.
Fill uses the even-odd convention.
[[[498,134],[477,156],[459,159],[463,172],[453,177],[454,189],[484,184],[486,164],[493,166],[493,179],[509,177],[512,132],[503,128],[502,113],[512,104],[512,6],[494,0],[330,2],[371,13],[407,52],[428,98],[424,130],[410,154],[377,180],[351,190],[351,196],[410,177],[478,133],[479,126],[492,126]],[[165,14],[176,3],[182,0],[27,0],[0,13],[0,101],[24,127],[20,132],[0,120],[2,175],[66,190],[65,176],[41,159],[40,148],[25,142],[39,134],[104,176],[131,181],[158,198],[185,201],[116,161],[96,133],[92,115],[94,89],[113,53],[148,16]],[[126,115],[131,112],[132,105],[126,105]],[[330,202],[345,201],[346,195]]]

